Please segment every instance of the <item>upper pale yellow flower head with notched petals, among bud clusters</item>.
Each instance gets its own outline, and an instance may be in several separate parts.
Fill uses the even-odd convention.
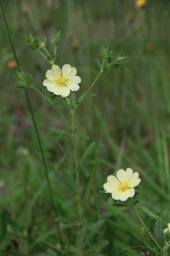
[[[81,78],[76,76],[76,73],[76,68],[69,64],[65,64],[62,70],[59,66],[53,65],[51,70],[46,71],[47,79],[43,81],[43,85],[49,92],[67,97],[70,91],[77,91],[80,88],[78,84],[81,83]]]

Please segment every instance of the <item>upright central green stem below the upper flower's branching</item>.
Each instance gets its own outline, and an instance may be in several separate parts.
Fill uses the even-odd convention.
[[[71,110],[72,113],[72,129],[75,130],[75,109]],[[80,228],[81,228],[81,195],[80,195],[80,175],[78,170],[78,156],[76,149],[76,137],[73,133],[73,148],[74,148],[74,165],[75,165],[75,173],[76,173],[76,187],[77,187],[77,208],[78,208],[78,230],[77,230],[77,253],[76,256],[80,255]]]

